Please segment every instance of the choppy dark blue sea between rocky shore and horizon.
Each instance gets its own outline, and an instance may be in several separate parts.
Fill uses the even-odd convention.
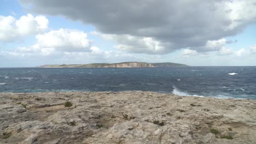
[[[154,91],[256,99],[256,67],[0,68],[0,92],[50,91]]]

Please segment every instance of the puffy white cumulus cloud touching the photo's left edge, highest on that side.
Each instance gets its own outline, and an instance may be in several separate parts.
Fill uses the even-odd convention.
[[[25,35],[42,33],[48,25],[48,19],[41,15],[34,17],[27,14],[18,20],[13,16],[0,15],[0,41],[11,42]]]

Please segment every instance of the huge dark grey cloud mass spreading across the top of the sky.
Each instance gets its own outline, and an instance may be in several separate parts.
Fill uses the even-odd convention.
[[[97,31],[115,35],[116,39],[133,37],[130,41],[118,40],[117,48],[137,53],[164,54],[187,47],[203,51],[207,49],[205,45],[211,45],[208,41],[236,35],[255,22],[256,17],[256,0],[20,2],[24,7],[29,5],[26,8],[34,13],[62,15],[90,23]],[[221,47],[213,45],[208,51],[216,49]]]

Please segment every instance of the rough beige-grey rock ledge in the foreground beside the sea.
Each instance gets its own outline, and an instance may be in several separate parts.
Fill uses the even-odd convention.
[[[0,98],[0,143],[256,143],[254,100],[141,91]]]

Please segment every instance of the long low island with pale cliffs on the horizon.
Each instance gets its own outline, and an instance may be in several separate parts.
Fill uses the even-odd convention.
[[[144,63],[144,62],[122,62],[122,63],[90,63],[90,64],[46,64],[39,68],[153,68],[153,67],[188,67],[179,63]]]

